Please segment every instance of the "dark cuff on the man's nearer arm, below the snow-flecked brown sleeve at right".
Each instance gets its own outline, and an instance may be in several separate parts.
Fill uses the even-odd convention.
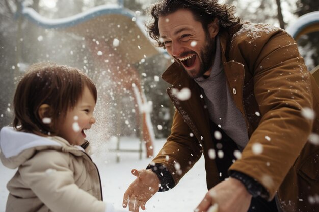
[[[246,187],[248,193],[250,193],[254,198],[258,196],[263,199],[269,198],[269,192],[252,177],[239,171],[232,171],[229,176],[240,180]]]

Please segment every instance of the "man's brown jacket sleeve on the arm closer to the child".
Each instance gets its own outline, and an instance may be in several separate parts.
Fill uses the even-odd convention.
[[[202,148],[195,135],[182,116],[175,111],[171,135],[151,165],[163,164],[171,173],[176,185],[199,160],[201,154]]]

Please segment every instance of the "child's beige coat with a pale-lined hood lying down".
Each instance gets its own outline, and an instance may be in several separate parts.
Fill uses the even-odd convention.
[[[2,163],[18,168],[7,185],[6,212],[113,211],[101,201],[97,167],[81,147],[10,127],[0,135]]]

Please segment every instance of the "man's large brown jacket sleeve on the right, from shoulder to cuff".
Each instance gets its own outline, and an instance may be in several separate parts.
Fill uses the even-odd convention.
[[[312,109],[312,91],[310,74],[294,39],[281,30],[260,38],[261,42],[251,43],[260,51],[246,49],[251,54],[246,57],[251,60],[262,118],[230,171],[253,177],[272,199],[312,130],[313,120],[302,115],[303,109]]]

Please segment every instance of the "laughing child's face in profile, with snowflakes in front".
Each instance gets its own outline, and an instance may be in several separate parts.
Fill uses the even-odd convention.
[[[95,100],[90,90],[85,87],[82,98],[74,108],[70,108],[65,119],[61,119],[58,126],[58,136],[66,139],[72,145],[81,145],[86,137],[84,130],[95,123],[93,111]]]

